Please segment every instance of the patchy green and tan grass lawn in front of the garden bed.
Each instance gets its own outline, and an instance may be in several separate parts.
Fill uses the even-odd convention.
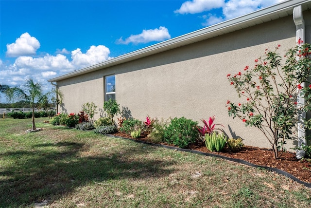
[[[28,134],[31,119],[0,120],[1,208],[311,206],[311,189],[273,172],[43,120]]]

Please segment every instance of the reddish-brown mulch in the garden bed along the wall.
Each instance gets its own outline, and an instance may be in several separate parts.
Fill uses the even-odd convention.
[[[122,132],[117,132],[112,135],[132,138],[130,135]],[[140,137],[138,140],[151,142],[148,140],[148,137]],[[191,145],[189,149],[210,153],[203,142],[201,144]],[[213,153],[226,157],[242,159],[255,165],[284,170],[294,175],[294,177],[301,181],[311,183],[311,162],[297,160],[295,153],[293,152],[284,152],[280,159],[274,159],[274,153],[272,150],[251,146],[245,146],[238,152],[229,152],[227,149],[224,149],[222,152]]]

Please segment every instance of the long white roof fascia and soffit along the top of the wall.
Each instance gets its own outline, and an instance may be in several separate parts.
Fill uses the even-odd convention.
[[[205,40],[208,38],[213,38],[216,36],[224,35],[226,33],[234,32],[237,30],[241,30],[243,28],[250,27],[249,25],[256,25],[263,22],[271,21],[273,19],[278,19],[282,17],[286,17],[288,15],[293,14],[293,9],[295,6],[304,5],[306,9],[311,8],[311,0],[287,0],[282,1],[278,4],[260,9],[258,11],[243,15],[238,18],[229,19],[224,22],[208,26],[206,28],[172,38],[142,49],[139,49],[134,52],[130,52],[128,54],[121,55],[119,57],[114,57],[104,62],[62,75],[52,79],[49,79],[49,82],[55,82],[59,80],[63,80],[66,78],[70,78],[73,76],[83,75],[89,72],[93,72],[99,69],[104,69],[110,66],[114,66],[117,64],[121,64],[124,62],[128,62],[131,60],[135,60],[141,57],[147,57],[153,54],[157,54],[163,51],[167,51],[173,48],[177,48],[180,46],[188,45],[197,41]],[[263,20],[267,19],[267,20]]]

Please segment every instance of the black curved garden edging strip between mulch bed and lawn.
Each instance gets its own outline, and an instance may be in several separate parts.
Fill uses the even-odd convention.
[[[115,136],[115,135],[112,135],[112,134],[105,134],[105,135],[109,136],[109,137],[114,137],[114,138],[128,139],[128,140],[135,141],[135,142],[138,142],[138,143],[141,143],[141,144],[147,144],[147,145],[156,146],[156,147],[163,147],[163,148],[171,149],[171,150],[186,151],[186,152],[192,152],[192,153],[201,154],[201,155],[205,155],[205,156],[219,157],[219,158],[222,158],[222,159],[225,159],[225,160],[229,160],[229,161],[233,161],[233,162],[236,162],[236,163],[240,163],[240,164],[243,164],[243,165],[248,165],[248,166],[255,167],[255,168],[263,168],[265,170],[274,171],[277,174],[280,174],[280,175],[283,175],[285,177],[288,177],[288,178],[296,181],[297,183],[300,183],[300,184],[302,184],[302,185],[304,185],[304,186],[306,186],[308,188],[311,188],[311,183],[307,183],[307,182],[301,181],[298,178],[294,177],[294,175],[292,175],[292,174],[290,174],[290,173],[288,173],[288,172],[286,172],[284,170],[279,170],[279,169],[271,168],[271,167],[267,167],[267,166],[255,165],[253,163],[250,163],[250,162],[242,160],[242,159],[231,158],[231,157],[226,157],[226,156],[223,156],[223,155],[207,153],[207,152],[202,152],[202,151],[182,149],[182,148],[179,148],[179,147],[172,147],[172,146],[167,146],[167,145],[163,145],[163,144],[155,144],[155,143],[140,141],[140,140],[136,140],[136,139],[125,138],[125,137],[121,137],[121,136]]]

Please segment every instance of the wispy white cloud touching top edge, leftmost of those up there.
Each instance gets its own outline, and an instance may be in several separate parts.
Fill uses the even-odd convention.
[[[224,5],[225,0],[192,0],[184,2],[181,7],[175,10],[178,14],[196,14],[211,9],[220,8]]]

